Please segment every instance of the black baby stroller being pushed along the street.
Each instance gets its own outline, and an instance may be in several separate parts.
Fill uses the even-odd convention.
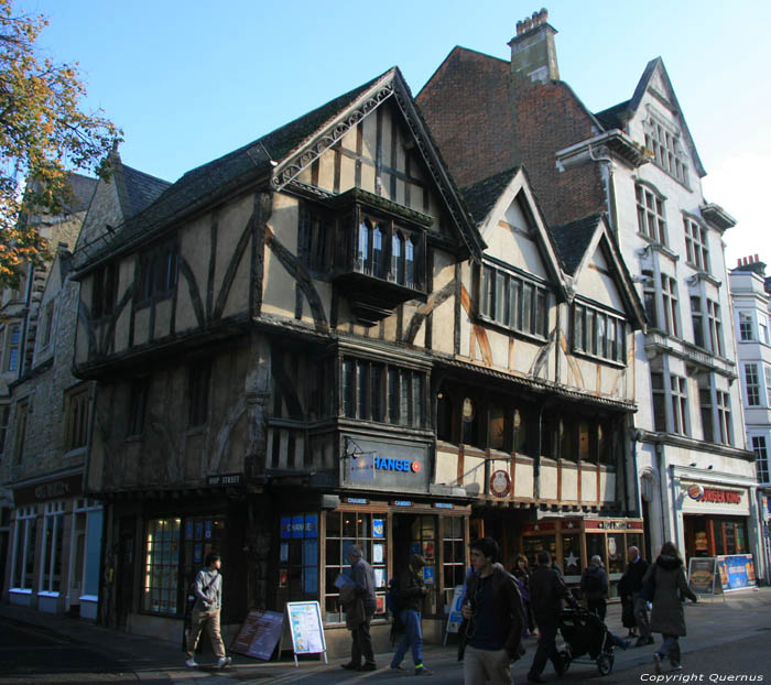
[[[608,675],[613,670],[610,631],[596,613],[583,608],[563,609],[560,612],[560,632],[565,640],[565,649],[560,652],[565,671],[574,661],[597,663],[600,675]]]

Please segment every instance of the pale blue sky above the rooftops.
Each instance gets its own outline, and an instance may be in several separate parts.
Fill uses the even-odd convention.
[[[541,0],[543,1],[543,0]],[[176,181],[382,74],[417,95],[455,45],[502,59],[521,0],[13,0],[43,13],[46,56],[77,62],[86,107],[123,130],[123,163]],[[560,76],[591,111],[629,99],[661,56],[702,163],[707,202],[738,221],[726,263],[771,264],[771,2],[551,0]],[[771,273],[771,269],[769,270]]]

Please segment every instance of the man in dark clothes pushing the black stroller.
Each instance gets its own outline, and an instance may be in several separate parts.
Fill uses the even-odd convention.
[[[552,568],[552,557],[549,552],[544,550],[539,552],[537,562],[539,565],[530,574],[530,606],[535,624],[539,627],[539,646],[528,672],[529,683],[543,683],[541,673],[550,660],[556,674],[563,674],[562,657],[556,648],[560,611],[562,611],[563,600],[574,609],[578,608],[562,574]]]

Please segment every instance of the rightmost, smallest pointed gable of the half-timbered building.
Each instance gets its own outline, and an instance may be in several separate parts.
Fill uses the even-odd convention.
[[[634,283],[605,218],[595,214],[550,228],[571,291],[596,302],[621,306],[632,326],[644,328],[645,316]]]

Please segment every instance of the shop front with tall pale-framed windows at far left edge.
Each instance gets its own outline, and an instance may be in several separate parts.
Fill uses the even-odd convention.
[[[8,601],[95,619],[102,508],[83,494],[83,471],[13,486]]]

